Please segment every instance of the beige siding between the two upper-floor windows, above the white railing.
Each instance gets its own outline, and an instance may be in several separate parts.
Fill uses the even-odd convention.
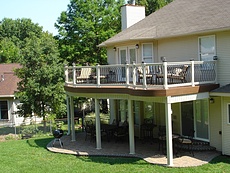
[[[198,59],[198,36],[170,38],[158,41],[158,60],[189,61]]]

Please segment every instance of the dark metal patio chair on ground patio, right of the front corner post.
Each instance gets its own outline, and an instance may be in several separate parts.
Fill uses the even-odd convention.
[[[193,129],[190,130],[189,132],[189,136],[187,137],[179,137],[177,138],[177,152],[176,152],[176,155],[182,150],[182,149],[185,149],[185,150],[188,150],[192,156],[194,156],[194,152],[193,152],[193,138],[194,138],[194,133],[195,131]]]

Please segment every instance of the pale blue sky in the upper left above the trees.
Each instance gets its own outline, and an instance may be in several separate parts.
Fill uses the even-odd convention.
[[[44,31],[57,35],[54,23],[70,0],[0,0],[0,21],[3,18],[29,18]]]

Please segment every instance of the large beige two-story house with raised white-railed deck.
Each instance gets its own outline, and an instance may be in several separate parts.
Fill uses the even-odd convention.
[[[138,10],[134,5],[122,8]],[[70,124],[73,97],[95,99],[100,149],[98,102],[109,99],[111,120],[129,122],[130,154],[135,153],[134,137],[141,137],[144,120],[152,119],[166,126],[169,166],[173,133],[187,136],[193,130],[195,139],[230,155],[229,9],[228,0],[174,0],[101,43],[109,65],[66,66]],[[90,77],[78,80],[83,68],[91,68]],[[69,130],[74,141],[73,124]]]

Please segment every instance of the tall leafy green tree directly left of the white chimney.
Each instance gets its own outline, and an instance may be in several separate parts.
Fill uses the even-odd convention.
[[[62,59],[105,64],[106,50],[97,45],[121,30],[123,4],[123,0],[71,0],[56,23]]]

